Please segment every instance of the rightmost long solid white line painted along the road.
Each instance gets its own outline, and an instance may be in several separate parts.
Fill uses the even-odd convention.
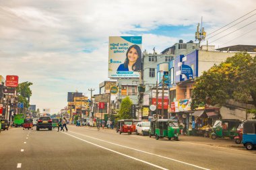
[[[73,131],[69,131],[69,132],[73,132]],[[65,133],[65,132],[64,132],[64,133]],[[73,132],[73,133],[79,134],[79,133],[77,133],[77,132]],[[66,134],[66,133],[65,133],[65,134]],[[85,135],[85,134],[79,134],[79,135],[86,136],[86,137],[88,137],[88,138],[94,138],[94,137],[92,137],[92,136],[87,136],[87,135]],[[139,151],[139,152],[141,152],[141,153],[146,153],[146,154],[149,154],[149,155],[154,155],[154,156],[156,156],[156,157],[161,157],[161,158],[164,158],[164,159],[169,159],[169,160],[171,160],[171,161],[176,161],[176,162],[178,162],[178,163],[183,163],[183,164],[185,164],[185,165],[190,165],[190,166],[193,166],[193,167],[197,167],[197,168],[199,168],[199,169],[210,170],[210,169],[207,169],[207,168],[204,168],[204,167],[199,167],[199,166],[197,166],[197,165],[193,165],[193,164],[191,164],[191,163],[185,163],[185,162],[179,161],[179,160],[177,160],[177,159],[171,159],[171,158],[169,158],[169,157],[164,157],[164,156],[162,156],[162,155],[156,155],[156,154],[154,154],[154,153],[148,153],[148,152],[146,152],[146,151],[141,151],[141,150],[139,150],[139,149],[137,149],[137,148],[131,148],[131,147],[128,147],[128,146],[123,146],[123,145],[121,145],[121,144],[116,144],[116,143],[113,143],[113,142],[108,142],[108,141],[106,141],[106,140],[101,140],[101,139],[99,139],[99,138],[94,138],[94,139],[100,140],[100,141],[102,141],[102,142],[107,142],[107,143],[109,143],[109,144],[115,144],[115,145],[117,145],[117,146],[121,146],[121,147],[124,147],[124,148],[129,148],[129,149],[132,149],[132,150],[134,150],[134,151]]]

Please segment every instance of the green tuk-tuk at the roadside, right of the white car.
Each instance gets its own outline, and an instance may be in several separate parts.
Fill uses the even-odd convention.
[[[156,130],[155,136],[156,140],[159,138],[174,138],[174,140],[179,140],[179,124],[178,120],[170,119],[158,119],[156,120]]]

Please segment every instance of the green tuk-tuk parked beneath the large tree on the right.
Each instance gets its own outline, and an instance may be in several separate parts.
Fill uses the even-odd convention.
[[[239,124],[241,124],[241,120],[237,119],[223,119],[223,120],[216,120],[214,126],[212,127],[212,139],[216,138],[224,138],[229,137],[233,139],[234,136],[237,136],[236,129],[238,128]]]

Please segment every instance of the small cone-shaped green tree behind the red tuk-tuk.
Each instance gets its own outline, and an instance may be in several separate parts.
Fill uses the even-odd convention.
[[[121,109],[119,110],[119,118],[121,119],[131,119],[131,99],[127,96],[121,102]]]

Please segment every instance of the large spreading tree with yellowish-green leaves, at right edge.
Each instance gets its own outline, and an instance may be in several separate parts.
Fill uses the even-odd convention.
[[[227,58],[195,79],[191,108],[197,108],[206,99],[212,105],[223,105],[227,99],[234,99],[256,107],[255,74],[255,57],[241,52]]]

